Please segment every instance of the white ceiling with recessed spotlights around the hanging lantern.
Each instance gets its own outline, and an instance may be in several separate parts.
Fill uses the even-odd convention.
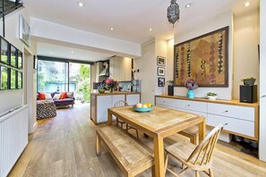
[[[194,25],[210,21],[219,13],[232,10],[236,14],[243,13],[259,6],[259,0],[248,1],[251,2],[249,7],[244,6],[246,0],[177,0],[181,13],[175,29],[167,22],[167,6],[170,0],[24,0],[22,2],[30,16],[142,44],[154,37],[173,38],[175,30],[193,29]],[[78,2],[82,2],[84,6],[79,7]],[[188,3],[192,6],[185,8],[185,4]],[[114,30],[110,30],[111,27]],[[55,47],[50,48],[55,49]],[[91,54],[90,58],[94,58],[94,55],[97,54]]]

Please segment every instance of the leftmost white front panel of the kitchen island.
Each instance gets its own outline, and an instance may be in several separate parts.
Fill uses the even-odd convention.
[[[107,122],[107,109],[112,106],[112,96],[97,97],[97,123]]]

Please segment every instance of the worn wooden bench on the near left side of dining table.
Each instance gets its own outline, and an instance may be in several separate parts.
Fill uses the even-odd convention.
[[[125,176],[135,176],[150,167],[154,173],[152,151],[129,133],[116,126],[98,127],[96,128],[96,154],[98,156],[101,142],[107,146],[108,152]]]

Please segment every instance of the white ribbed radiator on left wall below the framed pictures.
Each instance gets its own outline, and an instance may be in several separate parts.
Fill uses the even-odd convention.
[[[0,115],[0,177],[7,176],[28,144],[28,105]]]

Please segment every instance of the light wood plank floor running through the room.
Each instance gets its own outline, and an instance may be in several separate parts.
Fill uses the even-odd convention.
[[[105,149],[101,156],[95,155],[95,131],[89,117],[89,105],[76,105],[57,110],[55,118],[39,121],[38,130],[30,135],[29,145],[9,176],[123,176]],[[152,147],[151,139],[141,139]],[[180,139],[184,138],[176,135],[166,139],[166,144]],[[265,163],[220,144],[213,160],[215,176],[266,176]],[[170,159],[169,168],[179,172],[180,164]],[[150,175],[148,170],[139,176]],[[183,176],[194,173],[188,171]]]

